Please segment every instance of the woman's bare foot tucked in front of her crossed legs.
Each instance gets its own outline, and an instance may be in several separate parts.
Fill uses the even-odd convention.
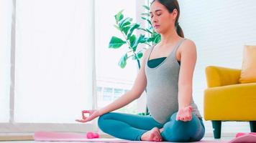
[[[157,127],[154,127],[150,131],[142,134],[142,141],[152,141],[152,142],[161,142],[163,139],[161,137],[160,131]]]

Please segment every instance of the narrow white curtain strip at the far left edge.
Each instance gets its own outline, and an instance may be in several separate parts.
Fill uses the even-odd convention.
[[[0,122],[9,122],[12,1],[0,1]]]

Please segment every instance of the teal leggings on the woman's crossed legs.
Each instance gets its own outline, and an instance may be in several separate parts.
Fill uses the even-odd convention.
[[[142,134],[153,127],[163,128],[161,136],[167,142],[196,142],[204,137],[204,123],[201,118],[192,114],[188,122],[176,121],[176,114],[165,124],[160,124],[151,116],[109,112],[99,117],[99,128],[113,137],[140,141]]]

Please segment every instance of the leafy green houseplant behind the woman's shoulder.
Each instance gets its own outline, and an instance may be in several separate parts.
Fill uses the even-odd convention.
[[[138,50],[137,46],[139,44],[145,44],[147,47],[157,44],[160,41],[160,34],[157,34],[150,21],[150,8],[148,6],[143,6],[147,12],[141,14],[141,18],[145,20],[148,27],[141,27],[138,23],[132,23],[132,18],[124,17],[122,11],[119,11],[114,18],[116,19],[116,24],[114,27],[122,33],[122,37],[112,36],[109,41],[110,49],[119,49],[121,47],[126,47],[127,52],[122,55],[119,59],[119,66],[124,69],[127,65],[127,60],[132,58],[137,61],[137,66],[140,69],[140,59],[143,56],[142,50]],[[145,34],[140,34],[136,36],[134,31],[145,31]],[[139,113],[141,115],[147,115],[148,109],[145,113]]]

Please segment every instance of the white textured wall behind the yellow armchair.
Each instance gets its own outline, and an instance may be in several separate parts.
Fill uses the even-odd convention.
[[[180,25],[195,41],[198,59],[193,77],[193,97],[203,113],[205,68],[209,65],[241,69],[244,44],[255,43],[256,1],[179,1]],[[239,105],[237,105],[239,106]],[[212,132],[211,122],[206,132]],[[248,122],[224,122],[222,132],[250,132]]]

